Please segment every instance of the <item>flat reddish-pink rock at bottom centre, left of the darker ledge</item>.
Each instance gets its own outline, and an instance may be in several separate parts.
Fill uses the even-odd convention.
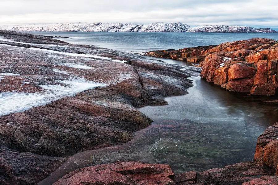
[[[53,185],[174,185],[171,167],[164,164],[117,162],[81,168],[58,180]]]

